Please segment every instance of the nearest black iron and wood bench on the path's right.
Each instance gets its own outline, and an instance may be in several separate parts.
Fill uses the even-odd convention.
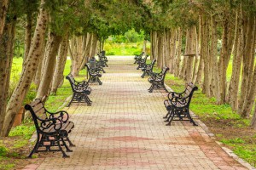
[[[164,101],[168,111],[167,115],[164,116],[166,122],[168,122],[166,126],[170,126],[172,121],[189,121],[194,126],[197,126],[189,114],[189,104],[194,91],[197,89],[192,82],[189,82],[183,93],[170,92],[168,94],[168,99]]]

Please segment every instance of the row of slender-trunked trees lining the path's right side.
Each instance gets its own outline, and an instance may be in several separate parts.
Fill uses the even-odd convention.
[[[219,105],[230,104],[241,117],[250,118],[256,128],[256,109],[251,117],[256,96],[256,2],[192,0],[172,1],[167,7],[166,1],[156,4],[157,13],[163,16],[160,23],[168,23],[151,31],[151,53],[158,66],[168,65],[176,77],[199,84],[204,94],[216,98]]]

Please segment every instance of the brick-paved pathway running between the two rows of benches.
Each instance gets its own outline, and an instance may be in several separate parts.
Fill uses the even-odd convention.
[[[70,158],[47,153],[26,169],[247,169],[213,141],[203,127],[172,122],[166,127],[166,92],[149,94],[147,78],[133,60],[109,59],[103,85],[92,85],[92,106],[72,105],[75,123]],[[34,166],[34,167],[33,167]]]

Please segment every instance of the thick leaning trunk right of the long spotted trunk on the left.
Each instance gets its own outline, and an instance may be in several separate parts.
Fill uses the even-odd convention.
[[[44,54],[44,70],[41,78],[41,82],[38,88],[36,99],[43,99],[43,102],[49,96],[50,83],[53,79],[56,55],[58,48],[60,47],[61,36],[57,36],[54,32],[49,31],[48,41]]]

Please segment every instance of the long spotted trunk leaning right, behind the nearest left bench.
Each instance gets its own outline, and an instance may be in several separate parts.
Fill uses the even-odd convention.
[[[20,110],[20,106],[23,102],[23,99],[25,98],[26,94],[24,93],[27,92],[27,88],[30,87],[32,78],[36,73],[38,66],[38,56],[40,56],[41,48],[44,43],[44,33],[46,30],[47,22],[48,14],[44,9],[44,0],[41,0],[37,26],[32,38],[32,46],[27,56],[28,60],[25,65],[25,69],[20,76],[20,81],[18,82],[14,93],[9,99],[1,136],[8,136],[9,131],[13,125],[15,115]]]

